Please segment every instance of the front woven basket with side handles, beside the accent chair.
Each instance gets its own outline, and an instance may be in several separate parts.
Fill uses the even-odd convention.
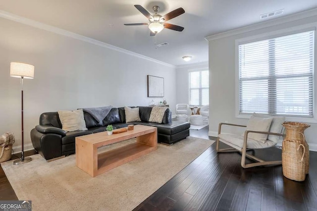
[[[282,150],[283,175],[295,181],[304,181],[305,174],[305,147],[299,142],[284,140]]]

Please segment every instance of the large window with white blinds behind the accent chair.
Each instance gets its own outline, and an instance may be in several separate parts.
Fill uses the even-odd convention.
[[[239,113],[313,117],[314,31],[239,45]]]

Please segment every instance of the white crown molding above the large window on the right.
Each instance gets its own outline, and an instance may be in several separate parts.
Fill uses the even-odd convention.
[[[317,16],[317,8],[306,10],[303,12],[298,12],[298,13],[287,15],[287,16],[280,17],[280,18],[267,20],[267,21],[261,22],[261,23],[256,23],[256,24],[245,26],[245,27],[229,30],[226,32],[221,32],[218,34],[210,35],[210,36],[205,37],[205,39],[207,41],[217,40],[220,38],[229,37],[229,36],[242,34],[242,33],[246,33],[246,32],[251,32],[251,31],[255,31],[255,30],[259,30],[259,29],[263,29],[263,28],[267,28],[267,27],[271,27],[271,26],[275,26],[275,25],[279,25],[279,24],[283,24],[283,23],[288,23],[288,22],[292,22],[292,21],[296,21],[296,20],[300,20],[300,19],[304,19],[304,18],[309,18],[309,17],[313,17],[313,16]]]

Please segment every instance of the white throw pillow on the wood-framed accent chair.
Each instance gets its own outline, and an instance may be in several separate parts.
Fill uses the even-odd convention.
[[[260,132],[268,132],[271,126],[273,118],[261,118],[251,116],[247,124],[247,130],[254,130]],[[244,133],[243,133],[244,136]],[[261,133],[249,133],[248,138],[265,143],[267,140],[267,134]]]

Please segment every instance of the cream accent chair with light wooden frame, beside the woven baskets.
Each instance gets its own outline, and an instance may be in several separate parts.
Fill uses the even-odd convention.
[[[259,114],[254,114],[256,116]],[[261,114],[260,114],[261,115]],[[284,118],[285,120],[285,118]],[[238,124],[229,124],[229,123],[219,123],[218,127],[218,137],[216,140],[216,150],[218,153],[226,153],[226,152],[240,152],[242,154],[241,158],[241,166],[243,168],[250,168],[254,166],[261,166],[261,165],[271,165],[271,164],[281,164],[281,160],[274,160],[274,161],[264,161],[261,158],[257,158],[253,155],[247,154],[247,150],[258,150],[258,149],[265,149],[274,147],[279,138],[283,136],[282,130],[283,128],[280,127],[281,122],[284,121],[281,117],[273,117],[272,123],[269,127],[269,132],[261,132],[261,131],[255,131],[255,130],[249,130],[250,127],[246,125],[238,125]],[[250,122],[250,121],[249,121]],[[235,127],[248,127],[247,130],[242,135],[237,134],[228,134],[228,133],[221,133],[221,126],[227,125],[227,126],[235,126]],[[250,134],[267,134],[267,140],[262,143],[260,141],[256,141],[254,139],[248,138]],[[232,148],[226,148],[226,149],[219,149],[219,142],[222,142],[226,145],[229,145]],[[269,157],[269,155],[267,155]],[[257,162],[255,163],[249,163],[246,164],[246,158],[251,158]]]

